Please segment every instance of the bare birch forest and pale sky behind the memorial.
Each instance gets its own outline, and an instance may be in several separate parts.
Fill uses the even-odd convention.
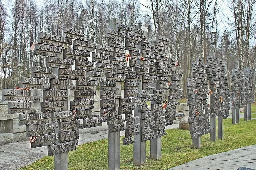
[[[183,89],[191,63],[209,51],[225,61],[230,83],[232,68],[255,70],[255,11],[256,0],[0,0],[0,89],[19,86],[31,66],[45,66],[30,50],[38,32],[61,35],[67,26],[107,45],[111,18],[147,26],[150,40],[171,39],[166,55],[180,62]]]

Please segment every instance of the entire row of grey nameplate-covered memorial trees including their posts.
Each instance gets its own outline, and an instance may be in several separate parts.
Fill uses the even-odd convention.
[[[229,87],[224,61],[209,52],[206,61],[197,57],[191,63],[192,74],[182,88],[182,62],[166,51],[171,40],[156,36],[150,41],[148,36],[145,25],[133,28],[119,19],[109,20],[107,45],[92,42],[76,28],[63,27],[62,35],[39,32],[33,50],[44,56],[45,67],[32,66],[31,77],[21,77],[19,87],[2,89],[8,114],[19,114],[18,124],[26,125],[31,150],[47,146],[55,169],[66,170],[68,152],[79,144],[79,130],[106,122],[108,169],[120,169],[120,145],[133,145],[133,164],[141,166],[150,141],[150,158],[158,160],[165,126],[184,116],[176,112],[184,93],[192,145],[197,149],[202,135],[210,133],[215,142],[217,129],[218,139],[225,140],[223,119],[230,109],[233,124],[239,123],[243,107],[244,120],[252,119],[254,70],[234,68]],[[96,89],[99,113],[92,112]],[[122,139],[121,131],[125,131]]]

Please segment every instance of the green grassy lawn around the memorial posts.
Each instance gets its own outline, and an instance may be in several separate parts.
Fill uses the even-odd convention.
[[[166,130],[167,135],[162,137],[162,158],[148,158],[150,142],[147,141],[147,159],[141,167],[133,165],[133,145],[121,146],[121,169],[168,169],[207,155],[256,144],[256,120],[242,120],[232,125],[232,119],[224,119],[223,124],[224,140],[211,142],[210,135],[204,135],[201,138],[201,149],[191,146],[189,131]],[[108,140],[80,145],[77,150],[69,152],[68,160],[69,169],[108,169]],[[45,156],[22,169],[54,169],[54,157]]]

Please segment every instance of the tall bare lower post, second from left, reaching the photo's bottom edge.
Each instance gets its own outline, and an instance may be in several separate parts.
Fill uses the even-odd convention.
[[[120,131],[108,133],[108,169],[120,169]]]

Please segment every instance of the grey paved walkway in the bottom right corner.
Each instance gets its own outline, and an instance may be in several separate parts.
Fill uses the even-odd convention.
[[[236,170],[239,167],[256,169],[256,145],[206,156],[169,170]]]

